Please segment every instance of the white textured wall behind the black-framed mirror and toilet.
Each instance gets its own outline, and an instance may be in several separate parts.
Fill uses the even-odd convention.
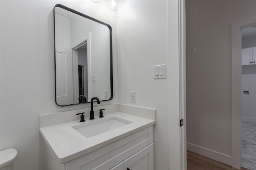
[[[53,8],[58,3],[112,26],[114,99],[101,104],[118,100],[116,13],[108,9],[107,2],[0,1],[0,150],[18,150],[14,170],[45,169],[38,115],[90,107],[90,104],[69,107],[55,104]]]

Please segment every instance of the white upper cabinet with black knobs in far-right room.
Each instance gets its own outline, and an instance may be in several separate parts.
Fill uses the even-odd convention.
[[[242,66],[256,64],[256,47],[242,49]]]

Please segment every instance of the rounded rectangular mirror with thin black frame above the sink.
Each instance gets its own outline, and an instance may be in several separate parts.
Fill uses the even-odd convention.
[[[113,98],[112,28],[57,4],[54,7],[55,101],[58,106]]]

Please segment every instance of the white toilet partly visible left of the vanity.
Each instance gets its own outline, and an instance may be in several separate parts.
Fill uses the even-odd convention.
[[[10,170],[12,162],[17,155],[17,150],[6,149],[0,151],[0,170]]]

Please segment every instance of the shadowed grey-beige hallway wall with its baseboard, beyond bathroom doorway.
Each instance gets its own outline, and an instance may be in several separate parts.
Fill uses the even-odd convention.
[[[231,22],[255,9],[256,1],[197,0],[196,7],[186,1],[187,146],[226,164],[232,162]]]

